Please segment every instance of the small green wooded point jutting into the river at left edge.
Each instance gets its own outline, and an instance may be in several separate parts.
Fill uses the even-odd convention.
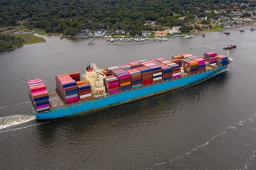
[[[11,35],[0,35],[0,50],[9,50],[23,46],[23,39]]]

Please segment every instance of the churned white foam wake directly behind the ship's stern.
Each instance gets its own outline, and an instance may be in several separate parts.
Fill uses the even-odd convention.
[[[34,115],[9,115],[0,118],[0,130],[35,120]]]

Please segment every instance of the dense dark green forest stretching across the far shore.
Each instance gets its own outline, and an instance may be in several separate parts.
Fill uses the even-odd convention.
[[[241,8],[255,8],[250,0],[2,0],[0,26],[33,26],[48,33],[75,35],[81,29],[129,30],[139,33],[151,30],[144,21],[157,21],[160,26],[184,26],[196,16],[214,18],[214,13],[227,13],[238,8],[237,3],[250,4]],[[223,15],[228,15],[223,13]],[[183,21],[179,17],[186,16]]]

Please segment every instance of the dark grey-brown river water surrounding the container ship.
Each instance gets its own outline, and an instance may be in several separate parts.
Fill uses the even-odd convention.
[[[1,169],[256,169],[256,31],[230,30],[169,41],[106,42],[45,36],[0,52]],[[156,57],[215,51],[228,72],[186,89],[90,115],[39,122],[26,81]]]

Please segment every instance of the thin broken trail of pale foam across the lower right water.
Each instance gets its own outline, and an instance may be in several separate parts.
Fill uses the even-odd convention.
[[[186,157],[188,154],[191,154],[192,152],[195,152],[196,150],[200,149],[201,147],[206,147],[207,145],[210,144],[210,141],[211,141],[211,140],[215,140],[215,138],[220,137],[220,136],[226,134],[228,129],[235,129],[235,128],[237,128],[239,125],[244,125],[244,123],[247,123],[247,122],[250,122],[250,123],[251,123],[251,122],[253,122],[253,121],[255,120],[255,118],[256,118],[256,114],[255,114],[255,115],[252,115],[250,118],[248,118],[248,119],[246,119],[246,120],[240,120],[238,123],[234,123],[233,126],[228,126],[227,128],[225,128],[225,131],[224,131],[224,132],[221,132],[220,134],[215,135],[214,137],[211,137],[209,140],[206,141],[205,144],[199,145],[198,147],[195,147],[195,148],[191,149],[191,151],[189,151],[189,152],[187,152],[187,153],[185,153],[185,154],[182,154],[182,155],[179,156],[179,157],[176,157],[176,158],[174,158],[174,159],[170,159],[169,162],[174,162],[174,161],[177,160],[177,159],[181,159],[181,158],[183,158],[183,157]],[[252,157],[250,157],[250,159],[252,159],[253,157],[255,157],[255,153],[256,153],[256,151],[253,151]],[[247,169],[247,165],[250,165],[250,162],[249,162],[249,161],[250,161],[250,160],[247,159],[247,163],[245,164],[246,169]],[[161,164],[167,164],[167,163],[168,163],[168,162],[160,162],[160,163],[154,164],[153,166],[151,166],[150,168],[147,168],[146,170],[148,170],[148,169],[153,169],[153,168],[156,167],[156,166],[159,166],[159,165],[161,165]]]

